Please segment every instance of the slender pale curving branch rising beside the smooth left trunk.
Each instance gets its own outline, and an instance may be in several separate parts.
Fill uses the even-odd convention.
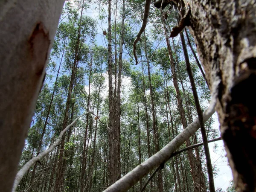
[[[89,113],[89,112],[88,112]],[[70,125],[68,125],[63,131],[61,131],[61,134],[59,135],[59,137],[57,138],[57,140],[45,151],[43,151],[42,153],[40,153],[38,156],[33,157],[31,160],[29,160],[21,169],[20,171],[17,173],[15,180],[14,180],[14,184],[13,184],[13,188],[12,188],[12,192],[15,192],[15,190],[17,189],[17,186],[19,185],[21,179],[23,178],[23,176],[26,174],[26,172],[29,170],[29,168],[37,161],[41,160],[42,157],[46,156],[49,152],[51,152],[61,141],[61,138],[63,136],[63,134],[72,126],[74,125],[74,123],[81,117],[86,115],[87,113],[80,115],[79,117],[77,117]]]

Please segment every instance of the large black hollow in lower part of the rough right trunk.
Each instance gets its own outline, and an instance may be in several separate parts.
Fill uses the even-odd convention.
[[[238,186],[243,191],[256,187],[256,73],[244,74],[231,90],[231,102],[227,105],[227,130],[223,139],[229,148]]]

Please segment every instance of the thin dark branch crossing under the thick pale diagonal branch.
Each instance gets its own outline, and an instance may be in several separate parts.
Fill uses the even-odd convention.
[[[215,139],[213,139],[213,140],[209,140],[208,143],[215,142],[215,141],[219,141],[219,140],[221,140],[221,137],[215,138]],[[188,146],[188,147],[186,147],[186,148],[183,148],[183,149],[181,149],[181,150],[179,150],[179,151],[176,151],[176,152],[174,152],[174,153],[169,157],[169,160],[170,160],[172,157],[174,157],[175,155],[177,155],[177,154],[180,154],[180,153],[182,153],[182,152],[184,152],[184,151],[187,151],[187,150],[189,150],[189,149],[192,149],[192,148],[199,147],[199,146],[201,146],[201,145],[204,145],[204,143],[197,143],[197,144],[195,144],[195,145],[190,145],[190,146]],[[152,173],[152,174],[150,175],[150,177],[148,178],[147,182],[144,184],[144,186],[143,186],[143,188],[140,190],[140,192],[143,192],[143,191],[144,191],[144,189],[146,188],[146,186],[148,185],[148,183],[150,182],[150,180],[152,180],[152,178],[154,177],[154,175],[155,175],[155,174],[158,172],[158,170],[160,170],[160,168],[162,168],[162,167],[163,167],[162,165],[160,165],[159,167],[157,167],[157,169],[154,171],[154,173]]]

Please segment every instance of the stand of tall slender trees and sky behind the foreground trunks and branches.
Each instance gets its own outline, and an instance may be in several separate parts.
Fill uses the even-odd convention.
[[[183,54],[190,34],[183,37],[185,47],[179,37],[169,39],[177,24],[176,12],[164,18],[151,6],[149,28],[137,45],[140,63],[134,67],[131,44],[143,16],[142,3],[100,2],[97,20],[86,16],[93,8],[85,0],[65,3],[19,168],[48,148],[77,116],[92,113],[77,121],[61,144],[30,168],[17,191],[102,191],[197,117]],[[103,23],[102,29],[96,29],[96,22]],[[107,35],[102,35],[106,29]],[[188,54],[204,110],[210,99],[204,71],[196,53]],[[206,123],[208,140],[218,137],[212,124],[212,119]],[[199,142],[197,132],[186,146]],[[146,190],[206,191],[204,159],[202,147],[178,154]],[[130,190],[142,189],[148,177]]]

